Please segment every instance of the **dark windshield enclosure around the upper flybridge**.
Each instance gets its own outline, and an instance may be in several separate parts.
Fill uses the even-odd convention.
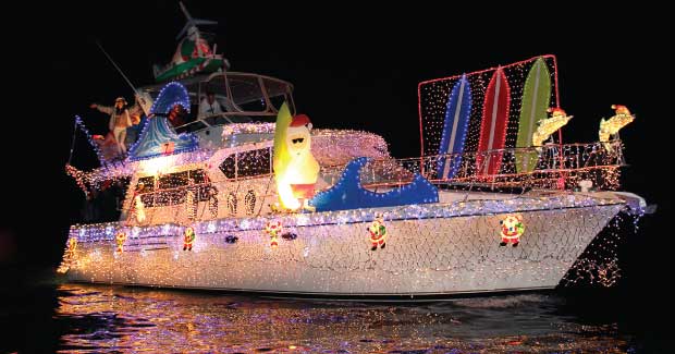
[[[274,122],[284,101],[295,111],[293,86],[249,73],[222,72],[180,81],[188,91],[191,112],[177,132],[194,132],[230,123]],[[144,88],[156,98],[161,86]]]

